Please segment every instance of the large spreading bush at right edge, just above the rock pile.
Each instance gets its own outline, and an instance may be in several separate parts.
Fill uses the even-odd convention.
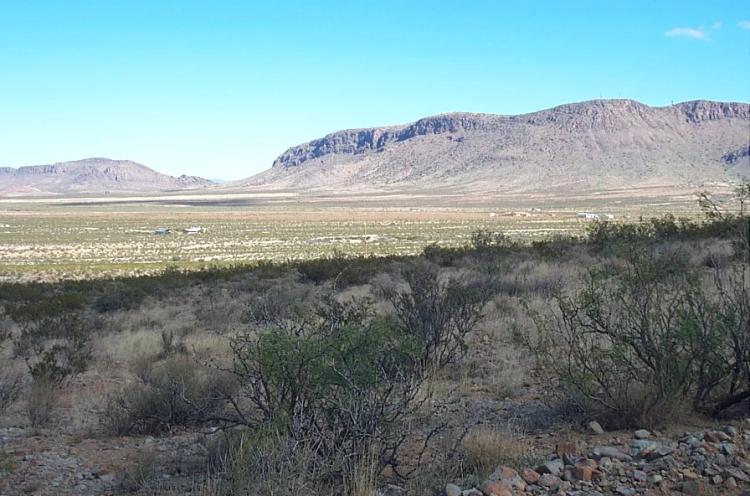
[[[653,226],[659,238],[688,229]],[[747,256],[708,274],[638,236],[614,243],[619,261],[535,313],[535,338],[519,336],[542,367],[615,427],[657,424],[683,406],[716,415],[750,398]]]

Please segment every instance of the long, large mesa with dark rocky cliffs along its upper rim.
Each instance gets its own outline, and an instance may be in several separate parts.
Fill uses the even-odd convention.
[[[531,114],[453,113],[292,147],[246,187],[585,191],[750,177],[750,105],[593,100]]]

